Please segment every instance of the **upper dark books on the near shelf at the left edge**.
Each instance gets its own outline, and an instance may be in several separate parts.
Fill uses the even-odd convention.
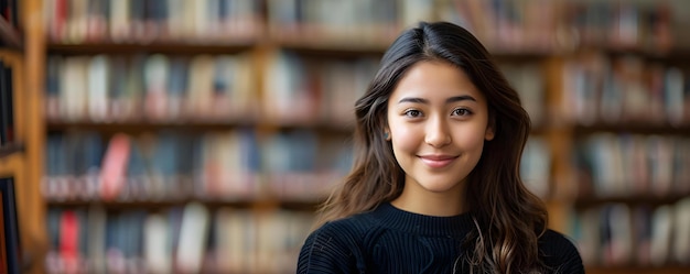
[[[0,146],[14,142],[14,85],[12,67],[0,59]]]

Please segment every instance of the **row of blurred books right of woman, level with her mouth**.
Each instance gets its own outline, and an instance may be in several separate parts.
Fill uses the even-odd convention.
[[[690,195],[690,139],[595,133],[574,147],[581,196]]]

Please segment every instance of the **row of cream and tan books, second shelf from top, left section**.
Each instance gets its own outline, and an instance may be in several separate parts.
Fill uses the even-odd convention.
[[[251,122],[256,72],[237,55],[51,55],[46,118],[62,122]]]

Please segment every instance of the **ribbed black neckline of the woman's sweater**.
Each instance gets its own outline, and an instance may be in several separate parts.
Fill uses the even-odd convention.
[[[384,227],[412,234],[462,239],[474,227],[470,212],[449,217],[428,216],[399,209],[390,202],[380,204],[373,216]]]

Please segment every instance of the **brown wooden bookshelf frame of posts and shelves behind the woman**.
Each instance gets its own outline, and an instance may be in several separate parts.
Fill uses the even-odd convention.
[[[114,0],[115,1],[115,0]],[[258,0],[259,1],[259,0]],[[375,1],[375,0],[374,0]],[[192,2],[192,1],[190,1]],[[90,207],[103,207],[106,211],[137,211],[137,210],[151,210],[163,211],[164,209],[173,207],[182,207],[193,201],[198,201],[202,205],[211,209],[211,212],[218,211],[220,209],[231,208],[238,210],[245,210],[251,215],[262,216],[270,215],[274,211],[281,210],[294,210],[306,211],[315,209],[315,205],[324,197],[310,197],[310,198],[285,198],[279,195],[272,195],[270,193],[261,193],[260,195],[247,196],[236,200],[204,200],[197,198],[190,198],[188,195],[181,199],[161,199],[161,200],[139,200],[139,201],[109,201],[109,200],[88,200],[88,199],[54,199],[45,197],[41,194],[42,182],[52,172],[52,164],[47,161],[46,151],[52,147],[46,145],[50,142],[48,135],[52,134],[67,134],[68,132],[96,132],[107,140],[118,133],[130,134],[131,136],[140,135],[149,132],[170,131],[175,133],[215,133],[215,132],[234,132],[239,129],[248,129],[254,132],[257,139],[271,140],[272,138],[289,134],[291,132],[309,132],[312,135],[317,135],[321,140],[335,140],[336,142],[346,143],[349,140],[349,134],[353,130],[352,121],[345,122],[344,125],[339,122],[333,122],[331,120],[308,120],[306,122],[283,122],[280,120],[266,119],[260,114],[257,117],[239,116],[231,119],[225,119],[220,121],[208,120],[184,120],[173,119],[173,121],[151,121],[147,119],[132,120],[132,121],[119,121],[119,122],[93,122],[88,119],[76,119],[69,121],[65,120],[52,120],[46,117],[47,95],[45,92],[47,83],[46,68],[48,58],[51,56],[62,56],[65,58],[87,56],[93,57],[96,55],[106,56],[134,56],[134,55],[151,55],[163,54],[169,57],[194,57],[196,55],[239,55],[246,54],[249,58],[247,65],[255,66],[256,74],[248,79],[252,85],[251,94],[258,97],[257,108],[267,108],[266,102],[262,101],[268,97],[274,96],[270,90],[271,77],[274,76],[271,73],[276,63],[285,62],[288,58],[294,57],[298,63],[285,63],[285,67],[289,67],[287,78],[308,78],[308,73],[293,74],[293,70],[303,69],[305,72],[324,72],[324,67],[333,63],[347,63],[356,62],[362,58],[377,59],[379,58],[387,45],[391,42],[391,34],[397,34],[397,31],[409,25],[411,22],[409,19],[405,22],[386,21],[391,20],[370,20],[376,24],[373,28],[366,28],[362,30],[359,34],[353,36],[343,36],[341,33],[328,33],[328,30],[339,30],[337,25],[330,25],[320,20],[325,20],[321,17],[303,14],[304,18],[297,19],[288,22],[277,21],[271,18],[272,9],[271,4],[281,4],[281,1],[259,1],[260,9],[259,17],[260,22],[256,26],[256,33],[247,35],[241,39],[205,39],[204,36],[191,35],[190,37],[176,39],[176,40],[162,40],[162,39],[140,39],[140,40],[125,40],[125,42],[111,42],[108,39],[100,40],[83,40],[82,42],[73,43],[69,37],[56,39],[53,29],[57,24],[48,25],[44,24],[45,18],[43,9],[52,9],[50,1],[42,0],[28,0],[23,4],[24,11],[24,30],[18,32],[13,28],[2,20],[0,20],[0,41],[8,45],[12,51],[20,50],[21,56],[18,57],[19,63],[22,65],[22,72],[24,73],[25,81],[21,87],[25,94],[23,96],[24,102],[22,103],[22,110],[18,119],[24,120],[25,123],[20,123],[20,127],[24,127],[21,132],[23,134],[21,144],[0,149],[0,154],[8,155],[7,161],[0,161],[0,171],[19,171],[23,173],[21,189],[18,193],[21,195],[20,209],[24,217],[22,231],[22,244],[25,246],[28,254],[28,263],[36,265],[32,270],[35,273],[40,273],[41,264],[45,261],[45,254],[47,251],[56,246],[50,246],[48,237],[50,223],[46,223],[46,219],[54,218],[54,215],[46,213],[54,209],[57,210],[87,210]],[[386,1],[380,1],[386,2]],[[429,1],[429,3],[434,1]],[[443,1],[442,1],[443,2]],[[551,4],[562,4],[563,1],[549,2]],[[606,2],[606,1],[603,1]],[[374,3],[374,2],[373,2]],[[381,4],[378,3],[377,4]],[[385,4],[385,3],[384,3]],[[579,3],[580,4],[580,3]],[[586,3],[581,3],[586,4]],[[378,7],[378,6],[377,6]],[[273,7],[274,8],[274,7]],[[303,9],[306,9],[302,7]],[[380,7],[378,7],[380,8]],[[553,7],[553,10],[542,10],[545,18],[574,18],[569,13],[568,7]],[[591,7],[578,7],[578,8],[591,8]],[[297,9],[297,8],[295,8]],[[455,10],[449,9],[449,7],[432,7],[438,12],[433,18],[428,20],[444,19],[440,14],[440,11]],[[395,9],[390,9],[395,10]],[[583,9],[571,9],[575,10]],[[586,9],[584,9],[586,10]],[[303,12],[306,12],[304,10]],[[313,12],[313,11],[309,11]],[[492,11],[483,11],[490,13]],[[559,12],[559,13],[557,13]],[[556,13],[556,14],[552,14]],[[493,14],[493,13],[492,13]],[[276,15],[276,14],[274,14]],[[284,15],[284,14],[283,14]],[[316,14],[317,15],[317,14]],[[399,14],[402,17],[402,14]],[[461,14],[462,15],[462,14]],[[493,14],[495,15],[495,14]],[[474,20],[488,20],[494,17],[473,17]],[[278,14],[276,17],[281,17]],[[366,20],[359,20],[359,14],[354,14],[352,25],[360,26],[363,22],[369,22]],[[289,17],[288,17],[289,18]],[[453,18],[451,18],[453,19]],[[300,20],[305,20],[301,22]],[[311,20],[311,21],[310,21]],[[412,20],[413,21],[413,20]],[[60,21],[57,21],[60,22]],[[64,23],[64,22],[62,22]],[[582,53],[594,52],[606,56],[606,58],[618,58],[623,56],[634,56],[648,63],[659,63],[664,66],[678,66],[686,74],[688,67],[690,67],[690,51],[688,48],[670,48],[669,51],[653,51],[653,50],[639,50],[639,47],[613,47],[605,43],[604,40],[595,41],[595,43],[587,44],[586,48],[583,45],[569,44],[572,40],[569,37],[559,36],[556,41],[556,34],[549,34],[543,36],[533,36],[533,41],[508,41],[510,35],[493,35],[495,29],[505,26],[498,26],[492,24],[492,22],[482,21],[476,22],[476,32],[482,41],[488,43],[487,47],[494,54],[496,61],[500,64],[522,65],[535,64],[540,67],[541,78],[543,79],[545,106],[542,110],[542,121],[539,124],[535,124],[533,134],[542,138],[548,144],[549,153],[543,155],[550,163],[548,194],[543,197],[547,201],[551,228],[569,234],[572,232],[573,216],[583,209],[599,207],[607,204],[625,204],[625,205],[639,205],[647,204],[653,206],[671,205],[690,194],[673,193],[661,197],[654,197],[645,194],[635,194],[626,197],[610,197],[610,196],[596,196],[593,194],[582,194],[582,189],[579,189],[581,182],[581,171],[578,169],[576,163],[573,163],[573,158],[578,154],[580,149],[579,144],[587,136],[600,133],[613,133],[613,134],[638,134],[638,135],[675,135],[688,139],[690,136],[690,128],[686,124],[671,125],[668,122],[615,122],[604,123],[595,120],[593,123],[583,125],[576,119],[569,117],[567,110],[572,109],[574,102],[569,96],[568,76],[571,75],[567,69],[576,61],[578,56]],[[504,22],[505,23],[505,22]],[[533,22],[532,22],[533,23]],[[323,24],[323,25],[320,25]],[[606,29],[607,25],[578,25],[576,22],[563,22],[563,24],[572,24],[571,29],[578,28],[594,28]],[[492,29],[492,26],[494,29]],[[548,26],[548,25],[546,25]],[[335,29],[333,29],[335,28]],[[377,30],[378,32],[369,33],[369,29]],[[556,32],[556,28],[537,28],[538,30],[547,30]],[[396,30],[391,32],[390,30]],[[503,30],[503,29],[502,29]],[[351,29],[343,29],[343,33],[352,32]],[[356,29],[355,29],[356,31]],[[503,30],[505,31],[505,30]],[[324,33],[325,32],[325,33]],[[365,33],[366,32],[366,33]],[[548,34],[548,33],[547,33]],[[530,34],[531,35],[531,34]],[[559,33],[559,35],[568,35],[567,33]],[[546,40],[553,36],[553,40]],[[211,42],[206,42],[211,41]],[[540,46],[541,42],[548,44],[548,46]],[[558,43],[557,43],[558,42]],[[531,43],[531,44],[530,44]],[[560,43],[560,44],[559,44]],[[574,42],[573,42],[574,43]],[[288,54],[285,57],[281,54]],[[276,57],[278,56],[278,57]],[[303,63],[303,64],[302,64]],[[317,64],[317,65],[314,65]],[[645,63],[647,64],[647,63]],[[284,64],[283,64],[284,65]],[[311,66],[314,65],[314,66]],[[347,68],[348,70],[357,70],[359,68]],[[280,72],[284,73],[284,72]],[[284,75],[282,75],[284,76]],[[315,79],[315,80],[314,80]],[[309,85],[316,85],[314,83],[325,81],[323,77],[315,76],[314,79],[308,80]],[[688,78],[686,78],[688,79]],[[686,83],[686,85],[688,85]],[[332,84],[333,87],[338,85]],[[353,88],[354,89],[354,88]],[[687,89],[687,87],[686,87]],[[362,91],[362,90],[358,90]],[[139,90],[142,92],[142,90]],[[326,92],[326,89],[316,91],[322,96]],[[313,96],[309,95],[309,96]],[[308,97],[309,97],[308,96]],[[294,96],[293,96],[294,97]],[[322,101],[317,101],[322,103]],[[272,106],[272,105],[268,105]],[[268,107],[270,108],[270,107]],[[295,108],[298,110],[302,108]],[[319,117],[322,112],[315,111],[311,113],[311,117]],[[336,117],[337,118],[337,117]],[[575,117],[576,118],[576,117]],[[688,122],[688,121],[684,121]],[[310,135],[310,138],[313,138]],[[263,143],[262,143],[263,144]],[[106,142],[107,145],[107,142]],[[290,144],[288,146],[299,146],[299,144]],[[313,147],[309,147],[313,149]],[[325,154],[325,153],[321,153]],[[304,158],[298,158],[292,162],[301,162]],[[46,165],[47,163],[47,165]],[[292,163],[294,164],[294,163]],[[299,164],[299,163],[298,163]],[[6,169],[2,169],[4,166]],[[68,174],[76,175],[79,174]],[[259,174],[261,177],[268,177],[267,174]],[[269,180],[262,178],[263,182]],[[271,182],[269,182],[270,184]],[[282,186],[284,187],[284,186]],[[294,240],[294,239],[293,239]],[[687,266],[678,266],[672,263],[661,266],[597,266],[586,265],[587,273],[657,273],[657,274],[672,274],[672,273],[687,273],[690,272]],[[247,271],[250,272],[250,271]]]

